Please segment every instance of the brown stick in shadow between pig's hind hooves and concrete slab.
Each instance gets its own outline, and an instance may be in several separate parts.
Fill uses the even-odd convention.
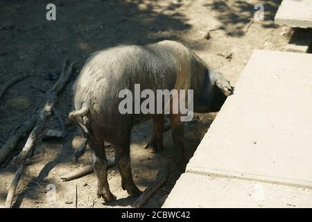
[[[146,188],[141,196],[137,198],[135,203],[133,204],[133,207],[140,208],[144,203],[146,203],[146,200],[152,196],[155,191],[157,191],[162,185],[164,185],[164,182],[166,182],[167,178],[169,175],[169,170],[168,168],[164,167],[162,171],[157,176],[157,179],[155,180],[154,184],[148,188]]]

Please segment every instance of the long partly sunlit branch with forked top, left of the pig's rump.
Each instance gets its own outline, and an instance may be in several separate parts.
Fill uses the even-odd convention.
[[[60,77],[58,78],[58,81],[55,83],[55,85],[53,85],[53,87],[46,92],[46,103],[39,114],[35,128],[33,128],[33,130],[31,131],[31,134],[29,135],[21,153],[13,158],[13,164],[19,165],[23,160],[26,160],[27,157],[31,156],[33,147],[35,146],[37,139],[40,137],[42,131],[44,130],[44,126],[46,125],[46,119],[51,115],[52,109],[56,103],[56,100],[58,99],[58,94],[61,92],[61,90],[71,77],[73,63],[74,62],[71,62],[69,67],[66,69],[67,60],[64,60],[62,73],[60,74]]]

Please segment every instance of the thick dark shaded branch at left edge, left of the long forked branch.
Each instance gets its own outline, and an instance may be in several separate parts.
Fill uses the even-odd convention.
[[[10,138],[7,140],[6,144],[0,149],[0,164],[8,158],[8,155],[15,150],[17,143],[22,137],[35,126],[37,122],[37,116],[33,116],[31,119],[27,119],[24,123],[17,126],[15,130],[12,131]]]

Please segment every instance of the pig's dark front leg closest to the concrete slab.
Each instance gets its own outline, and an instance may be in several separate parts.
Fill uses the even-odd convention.
[[[171,135],[173,139],[173,144],[175,146],[175,161],[177,167],[183,170],[187,165],[187,160],[185,158],[185,149],[184,149],[184,124],[180,119],[180,114],[171,114],[170,115],[170,126],[171,126]]]

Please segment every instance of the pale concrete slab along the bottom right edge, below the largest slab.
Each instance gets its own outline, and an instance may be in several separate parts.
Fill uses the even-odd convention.
[[[162,207],[312,207],[312,190],[183,173]]]

